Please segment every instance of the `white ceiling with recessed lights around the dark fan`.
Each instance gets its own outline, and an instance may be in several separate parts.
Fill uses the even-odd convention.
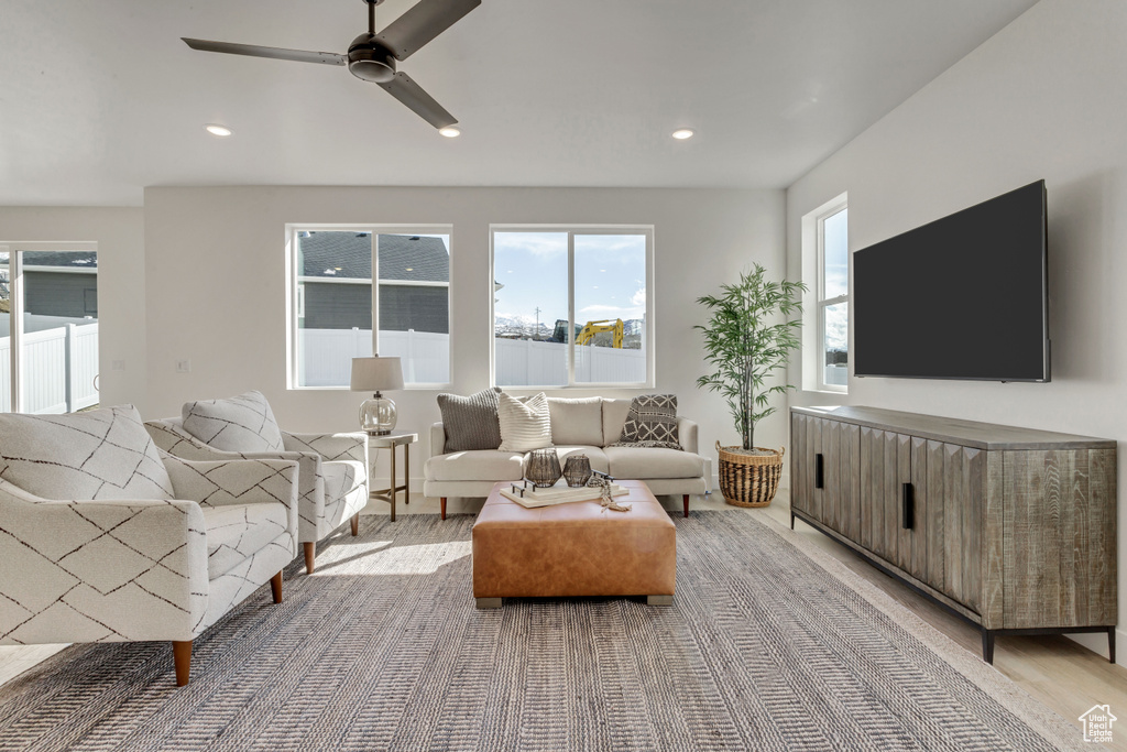
[[[483,0],[400,67],[461,121],[445,139],[347,69],[179,38],[344,52],[362,0],[5,0],[0,204],[139,205],[151,185],[786,187],[1033,2]],[[387,0],[378,27],[411,5]]]

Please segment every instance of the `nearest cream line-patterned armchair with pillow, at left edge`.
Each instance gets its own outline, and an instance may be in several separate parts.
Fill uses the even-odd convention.
[[[0,415],[0,644],[192,643],[298,552],[298,463],[161,455],[131,405]]]

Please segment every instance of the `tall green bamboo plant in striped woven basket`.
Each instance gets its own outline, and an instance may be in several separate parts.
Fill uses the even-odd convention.
[[[782,474],[782,449],[755,445],[755,424],[775,412],[770,404],[790,384],[767,386],[775,370],[784,368],[789,353],[799,346],[802,326],[800,282],[772,282],[758,264],[720,294],[696,302],[710,313],[704,335],[704,361],[713,369],[696,386],[720,392],[736,422],[742,444],[721,446],[720,493],[735,506],[766,506],[774,498]]]

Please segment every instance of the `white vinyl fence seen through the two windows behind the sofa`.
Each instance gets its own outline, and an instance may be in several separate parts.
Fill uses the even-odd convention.
[[[353,357],[372,354],[371,329],[301,329],[298,383],[347,387]],[[497,384],[550,387],[567,383],[567,345],[532,339],[494,340]],[[578,346],[577,383],[641,383],[646,354],[640,350]],[[380,355],[402,359],[405,383],[450,382],[450,335],[381,331]]]

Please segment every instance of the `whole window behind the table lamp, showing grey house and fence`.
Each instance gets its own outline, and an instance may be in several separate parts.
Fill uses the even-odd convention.
[[[347,388],[372,354],[398,355],[407,386],[450,382],[449,227],[289,231],[291,387]]]

